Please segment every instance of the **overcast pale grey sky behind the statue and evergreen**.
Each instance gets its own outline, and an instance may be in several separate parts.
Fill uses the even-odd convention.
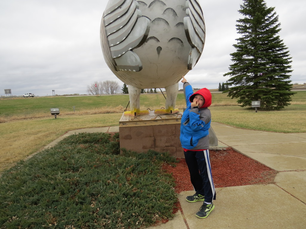
[[[202,56],[186,75],[193,87],[218,88],[228,78],[235,25],[242,0],[200,0],[206,25]],[[87,94],[95,81],[121,82],[107,67],[100,46],[100,22],[106,0],[0,1],[0,95]],[[292,57],[293,83],[306,82],[304,0],[266,0],[275,7],[279,33]],[[182,85],[180,85],[182,88]]]

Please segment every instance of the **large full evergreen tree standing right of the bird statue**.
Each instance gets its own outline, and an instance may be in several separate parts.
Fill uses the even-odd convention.
[[[237,20],[235,53],[231,53],[233,64],[224,92],[239,98],[241,107],[251,106],[252,100],[260,100],[267,109],[281,109],[288,106],[291,96],[291,75],[289,51],[280,39],[281,30],[275,7],[267,7],[264,0],[244,0],[239,13],[244,18]]]

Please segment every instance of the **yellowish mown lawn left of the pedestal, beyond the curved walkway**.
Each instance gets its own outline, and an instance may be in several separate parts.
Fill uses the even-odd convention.
[[[119,125],[120,114],[74,115],[39,118],[1,124],[0,171],[41,150],[75,129]]]

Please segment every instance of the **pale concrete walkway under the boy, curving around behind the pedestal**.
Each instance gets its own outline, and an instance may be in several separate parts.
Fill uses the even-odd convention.
[[[245,130],[214,122],[211,126],[220,144],[279,171],[275,183],[217,188],[215,209],[206,219],[195,216],[202,202],[185,200],[194,191],[181,192],[178,198],[182,212],[150,229],[306,228],[306,133]],[[70,131],[46,147],[81,132],[119,132],[119,127]]]

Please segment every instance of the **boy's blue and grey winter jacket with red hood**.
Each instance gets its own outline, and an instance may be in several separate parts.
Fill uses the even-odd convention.
[[[181,145],[187,150],[202,150],[209,148],[208,129],[211,123],[211,112],[207,108],[211,105],[211,93],[207,88],[202,88],[193,93],[191,85],[183,85],[187,108],[181,118]],[[202,107],[193,108],[191,102],[196,94],[205,99]]]

